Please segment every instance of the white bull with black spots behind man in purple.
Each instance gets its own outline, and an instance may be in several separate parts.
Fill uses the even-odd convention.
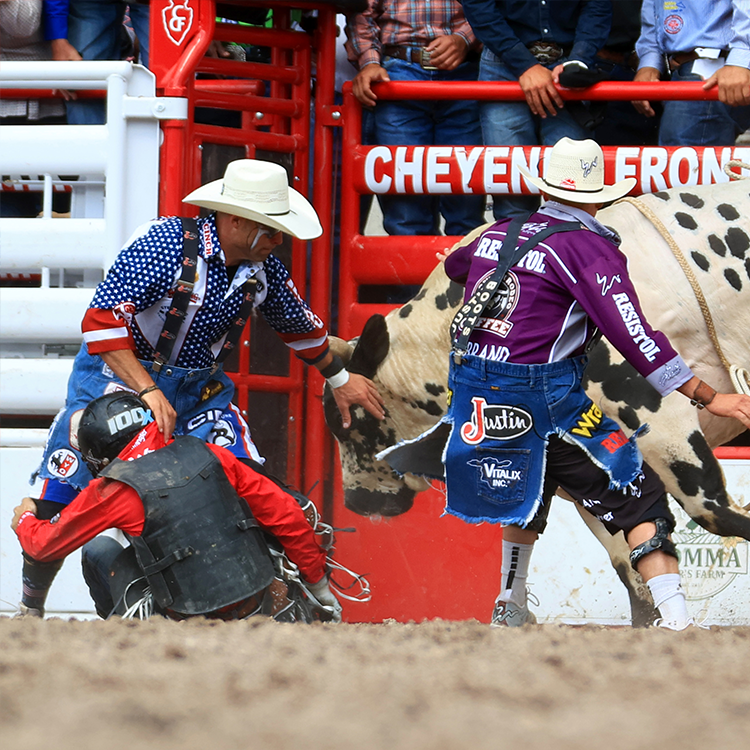
[[[667,334],[696,375],[733,392],[725,365],[750,363],[750,226],[745,218],[750,216],[750,180],[674,188],[638,201],[651,218],[627,201],[603,209],[597,218],[622,237],[621,249],[651,325]],[[684,269],[664,234],[681,250]],[[410,302],[385,317],[370,318],[358,340],[333,341],[349,368],[374,380],[385,399],[383,422],[357,408],[351,428],[344,431],[327,394],[326,418],[339,444],[345,505],[356,513],[405,513],[428,486],[412,474],[400,477],[375,454],[420,435],[444,414],[448,328],[462,293],[439,263]],[[679,393],[662,398],[606,340],[592,350],[586,379],[589,396],[627,434],[644,422],[651,426],[639,440],[645,459],[697,523],[715,534],[750,539],[750,511],[727,493],[712,452],[743,431],[738,421],[699,411]],[[653,613],[650,596],[628,563],[622,535],[610,537],[576,507],[628,588],[633,624],[645,624]]]

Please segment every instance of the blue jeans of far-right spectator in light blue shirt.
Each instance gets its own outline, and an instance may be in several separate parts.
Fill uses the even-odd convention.
[[[685,63],[672,73],[673,81],[702,81]],[[660,146],[733,146],[750,128],[750,106],[730,107],[719,101],[664,102],[659,125]]]

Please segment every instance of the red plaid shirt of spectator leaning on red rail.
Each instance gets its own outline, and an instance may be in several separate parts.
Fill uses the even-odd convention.
[[[369,0],[363,13],[346,25],[349,59],[360,69],[383,59],[383,46],[426,47],[436,36],[458,34],[471,47],[476,42],[456,0]]]

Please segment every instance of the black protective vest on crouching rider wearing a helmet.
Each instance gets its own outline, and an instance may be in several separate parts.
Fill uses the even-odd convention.
[[[143,533],[129,538],[161,608],[206,614],[271,582],[258,524],[202,440],[178,437],[135,461],[115,459],[101,476],[143,501]]]

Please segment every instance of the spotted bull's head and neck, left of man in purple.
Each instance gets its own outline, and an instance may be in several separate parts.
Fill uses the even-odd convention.
[[[397,516],[408,511],[429,483],[413,474],[400,476],[375,455],[432,427],[446,410],[449,324],[461,300],[442,263],[411,302],[373,315],[351,342],[331,337],[331,348],[350,372],[370,378],[385,401],[379,422],[361,407],[351,410],[345,430],[326,386],[326,422],[339,445],[344,504],[363,516]]]

